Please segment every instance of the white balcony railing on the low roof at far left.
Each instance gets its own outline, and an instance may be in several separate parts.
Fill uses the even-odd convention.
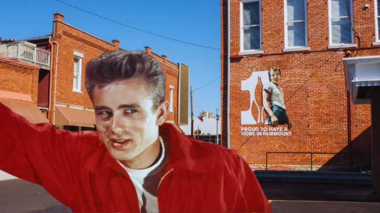
[[[28,42],[29,43],[29,42]],[[0,44],[0,57],[50,66],[50,51],[26,42]]]

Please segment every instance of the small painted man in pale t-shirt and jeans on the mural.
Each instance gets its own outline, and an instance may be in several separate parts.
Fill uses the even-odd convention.
[[[277,127],[279,124],[287,124],[290,129],[292,124],[286,114],[284,92],[279,86],[281,79],[280,68],[270,68],[268,71],[270,82],[263,86],[263,105],[268,113],[268,124]]]

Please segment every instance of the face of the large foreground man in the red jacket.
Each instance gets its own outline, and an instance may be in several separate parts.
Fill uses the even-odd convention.
[[[158,142],[158,126],[163,121],[157,119],[160,110],[152,110],[149,86],[144,79],[96,86],[93,103],[97,131],[115,160],[133,161],[152,151],[149,149]]]

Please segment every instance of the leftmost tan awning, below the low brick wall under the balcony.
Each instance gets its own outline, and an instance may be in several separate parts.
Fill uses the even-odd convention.
[[[31,123],[38,124],[49,122],[37,105],[7,100],[0,100],[0,102],[3,105],[8,106],[14,113],[25,117]]]

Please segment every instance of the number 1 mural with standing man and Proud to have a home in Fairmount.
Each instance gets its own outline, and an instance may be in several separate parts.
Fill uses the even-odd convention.
[[[292,123],[286,113],[284,92],[280,87],[280,82],[281,69],[275,67],[269,71],[254,71],[248,79],[241,81],[241,90],[247,90],[250,94],[250,108],[247,111],[241,111],[241,125],[255,125],[242,126],[242,136],[291,136],[289,130]],[[259,83],[262,85],[261,103],[258,103],[255,98],[256,87]],[[257,113],[253,113],[255,111],[255,108],[252,109],[253,104],[257,107]],[[262,106],[261,109],[259,105]],[[257,121],[254,114],[258,115]]]

